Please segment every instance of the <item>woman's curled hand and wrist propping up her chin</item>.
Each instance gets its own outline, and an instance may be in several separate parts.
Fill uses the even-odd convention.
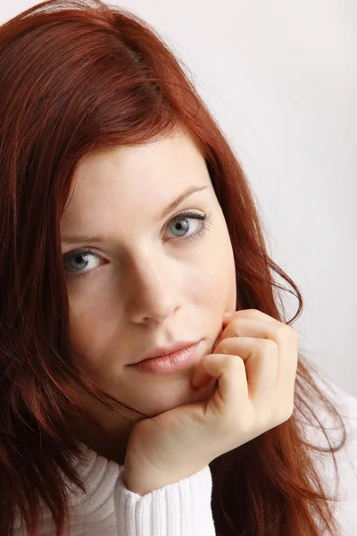
[[[235,312],[222,327],[192,381],[200,389],[215,378],[211,398],[133,427],[123,473],[129,490],[144,495],[187,478],[293,414],[297,331],[255,309]]]

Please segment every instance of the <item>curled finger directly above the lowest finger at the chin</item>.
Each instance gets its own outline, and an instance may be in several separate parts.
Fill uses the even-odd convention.
[[[257,406],[269,404],[277,385],[277,344],[270,339],[235,337],[223,340],[217,351],[243,359],[249,398]]]

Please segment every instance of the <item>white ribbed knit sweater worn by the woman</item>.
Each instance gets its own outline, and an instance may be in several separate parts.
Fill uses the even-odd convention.
[[[357,398],[334,389],[336,407],[343,414],[349,434],[347,447],[336,453],[340,473],[340,502],[336,520],[343,536],[357,535]],[[324,388],[321,383],[321,387]],[[326,388],[325,388],[326,390]],[[320,415],[320,414],[319,414]],[[326,416],[326,415],[325,415]],[[323,415],[322,415],[323,418]],[[328,425],[328,420],[323,421]],[[306,428],[306,436],[316,441],[320,431]],[[336,432],[331,430],[334,442]],[[335,435],[334,435],[335,434]],[[340,433],[336,440],[340,437]],[[319,439],[320,440],[320,439]],[[321,432],[321,445],[323,441]],[[334,491],[333,464],[317,460],[321,474]],[[212,474],[209,465],[187,478],[154,490],[144,496],[129,491],[122,480],[122,465],[97,456],[87,449],[86,465],[81,469],[87,483],[87,496],[71,493],[71,536],[214,536],[212,518]],[[239,507],[237,505],[237,507]],[[49,515],[38,536],[53,536]],[[322,532],[321,532],[322,534]]]

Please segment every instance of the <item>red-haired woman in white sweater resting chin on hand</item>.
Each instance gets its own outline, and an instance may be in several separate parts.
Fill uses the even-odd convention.
[[[298,351],[302,296],[154,30],[38,4],[0,29],[0,103],[0,533],[354,533],[356,399]]]

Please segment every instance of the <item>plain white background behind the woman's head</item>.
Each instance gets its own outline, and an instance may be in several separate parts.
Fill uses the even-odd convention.
[[[0,21],[35,4],[2,4]],[[187,64],[245,169],[270,255],[302,291],[301,347],[357,396],[356,0],[112,4]]]

